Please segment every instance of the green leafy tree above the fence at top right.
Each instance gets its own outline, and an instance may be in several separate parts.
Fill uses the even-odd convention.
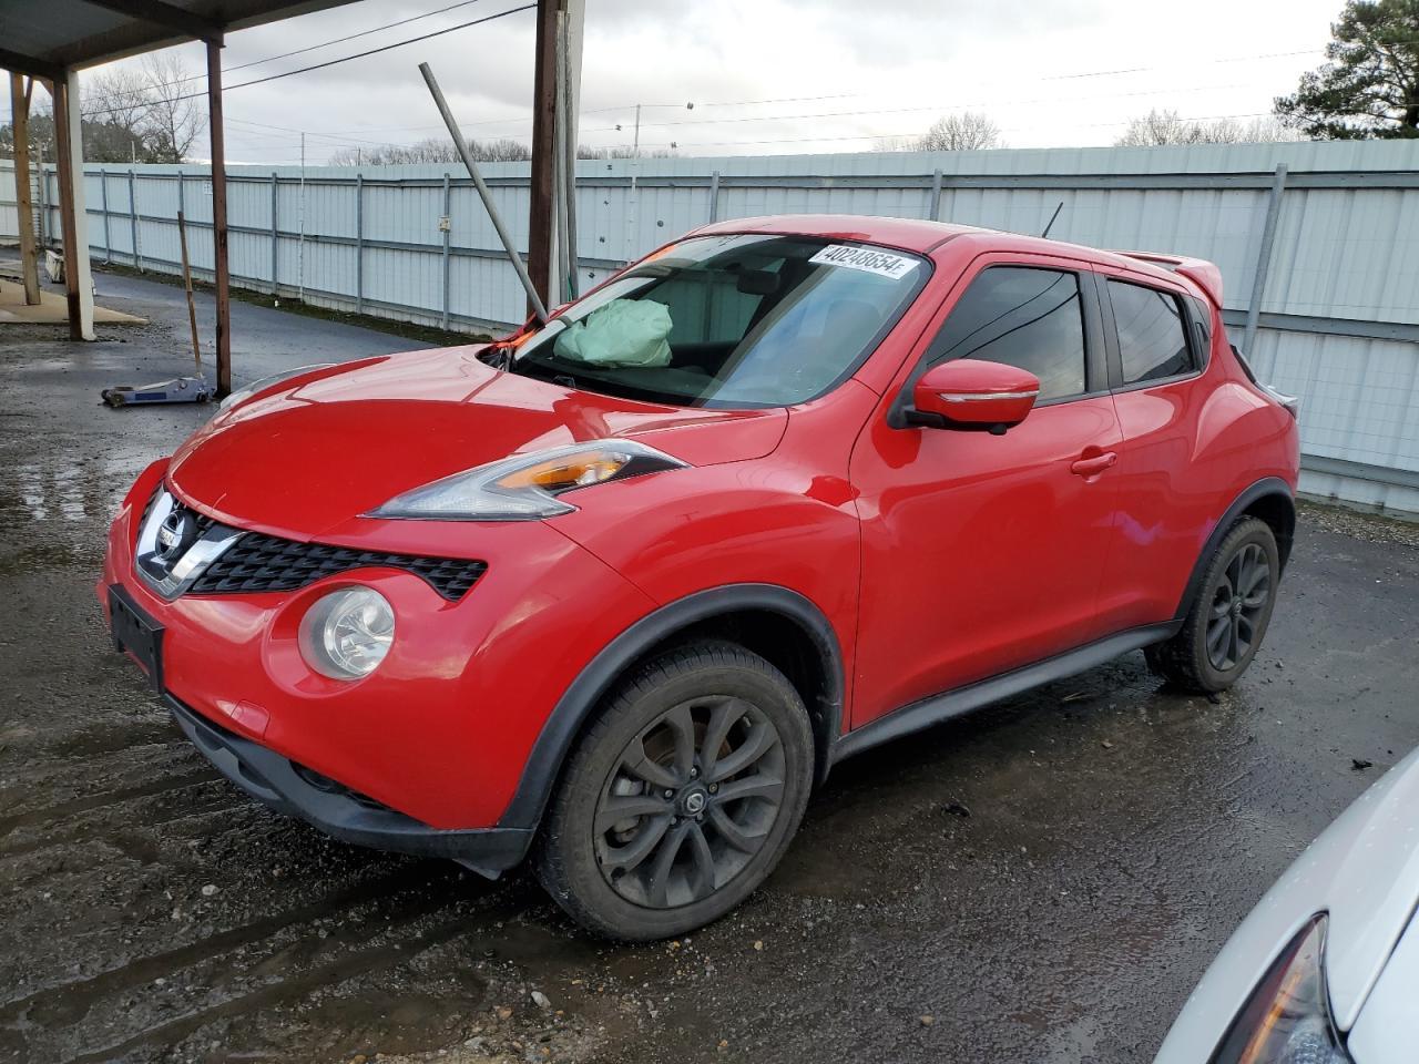
[[[1419,0],[1348,0],[1331,37],[1277,116],[1318,139],[1419,136]]]

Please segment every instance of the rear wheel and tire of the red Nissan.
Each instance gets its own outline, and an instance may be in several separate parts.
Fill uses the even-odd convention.
[[[1144,651],[1148,667],[1199,694],[1232,687],[1266,637],[1280,575],[1270,525],[1237,519],[1213,553],[1182,628]]]

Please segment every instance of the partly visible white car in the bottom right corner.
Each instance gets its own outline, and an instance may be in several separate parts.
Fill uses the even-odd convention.
[[[1242,922],[1155,1064],[1419,1061],[1419,750]]]

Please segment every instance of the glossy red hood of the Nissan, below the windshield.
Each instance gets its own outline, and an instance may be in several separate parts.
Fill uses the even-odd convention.
[[[302,376],[214,417],[173,455],[169,487],[228,525],[308,539],[394,495],[509,454],[637,438],[691,465],[758,458],[785,410],[697,410],[495,370],[481,348]]]

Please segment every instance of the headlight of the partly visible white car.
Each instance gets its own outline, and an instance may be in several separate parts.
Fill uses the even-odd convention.
[[[1351,1064],[1330,1019],[1317,916],[1271,965],[1227,1030],[1212,1064]]]

